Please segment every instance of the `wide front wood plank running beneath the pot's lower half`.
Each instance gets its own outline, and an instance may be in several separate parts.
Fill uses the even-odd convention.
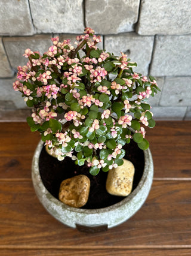
[[[104,233],[85,234],[46,212],[31,182],[0,182],[0,246],[191,246],[191,181],[154,181],[144,206]]]

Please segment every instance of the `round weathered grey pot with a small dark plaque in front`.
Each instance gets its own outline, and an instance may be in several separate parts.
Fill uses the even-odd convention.
[[[80,231],[97,232],[115,227],[131,218],[149,195],[153,180],[153,160],[149,149],[144,150],[144,171],[137,187],[119,203],[101,209],[78,209],[67,206],[47,191],[39,173],[39,156],[44,142],[36,147],[32,161],[32,182],[36,195],[47,211],[63,224]]]

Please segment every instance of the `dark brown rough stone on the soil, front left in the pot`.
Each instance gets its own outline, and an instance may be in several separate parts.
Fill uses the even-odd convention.
[[[59,200],[68,206],[79,208],[87,203],[89,192],[90,179],[80,174],[61,182]]]

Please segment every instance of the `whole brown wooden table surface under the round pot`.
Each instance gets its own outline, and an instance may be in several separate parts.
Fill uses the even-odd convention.
[[[144,206],[104,233],[66,227],[39,203],[30,178],[40,139],[26,123],[0,123],[0,255],[191,255],[191,121],[157,122]]]

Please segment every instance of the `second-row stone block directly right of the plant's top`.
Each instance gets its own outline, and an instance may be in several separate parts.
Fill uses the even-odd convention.
[[[135,33],[105,36],[104,48],[106,52],[121,55],[124,52],[131,61],[137,63],[134,71],[147,75],[152,56],[154,37],[140,37]]]

